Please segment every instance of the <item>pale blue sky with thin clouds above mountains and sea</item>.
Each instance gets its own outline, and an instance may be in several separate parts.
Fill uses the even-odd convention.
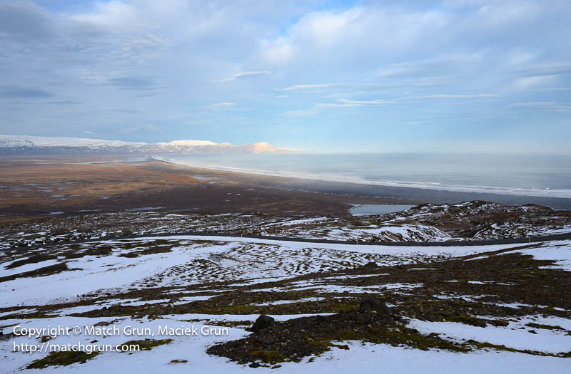
[[[571,154],[571,1],[4,1],[0,134]]]

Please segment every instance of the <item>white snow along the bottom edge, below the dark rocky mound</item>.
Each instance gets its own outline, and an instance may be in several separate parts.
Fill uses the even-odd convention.
[[[13,321],[16,322],[16,321]],[[26,327],[41,328],[51,326],[86,326],[95,321],[88,318],[51,318],[46,321],[33,321],[24,324]],[[145,326],[156,330],[158,326],[179,325],[175,319],[155,319],[153,321],[133,321],[124,318],[116,322],[118,328],[124,326]],[[203,323],[195,323],[198,330]],[[301,363],[282,363],[278,370],[270,368],[248,368],[236,365],[228,360],[207,355],[205,350],[217,341],[228,341],[246,336],[240,328],[228,328],[228,336],[191,336],[174,339],[172,343],[158,346],[153,350],[132,354],[104,352],[84,364],[75,363],[64,367],[44,368],[41,373],[379,373],[380,366],[386,373],[568,373],[570,359],[541,357],[523,353],[479,351],[477,353],[452,353],[439,350],[415,350],[370,343],[346,342],[348,350],[333,348],[313,362],[303,360]],[[529,334],[528,334],[529,335]],[[166,337],[166,336],[165,336]],[[157,338],[160,338],[157,336]],[[77,343],[79,339],[71,336],[59,336],[52,339],[53,344]],[[84,338],[89,344],[91,338]],[[121,344],[128,338],[108,336],[101,343]],[[11,350],[13,343],[29,343],[30,339],[19,337],[15,342],[0,342],[0,350],[4,353]],[[528,340],[529,341],[529,340]],[[532,343],[535,344],[535,343]],[[31,362],[39,354],[13,353],[4,355],[2,373],[18,373],[20,368]],[[171,363],[173,360],[186,360]],[[35,371],[35,370],[24,370]]]

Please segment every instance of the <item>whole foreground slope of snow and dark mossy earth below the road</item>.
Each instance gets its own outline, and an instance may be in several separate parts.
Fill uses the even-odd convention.
[[[156,346],[149,350],[52,362],[42,372],[235,373],[273,367],[283,373],[378,373],[382,365],[390,373],[567,373],[570,271],[571,241],[395,247],[180,236],[11,249],[0,258],[0,372],[35,370],[26,367],[48,357],[45,351],[14,352],[15,344],[115,346],[151,338]],[[319,331],[295,330],[295,324],[291,335],[278,336],[278,350],[268,350],[278,359],[260,355],[258,348],[238,353],[260,368],[236,363],[230,351],[226,357],[206,353],[214,345],[252,339],[256,334],[247,328],[260,314],[276,318],[276,326],[305,321],[303,316],[336,318],[370,297],[402,319],[368,335],[328,336],[322,341],[328,348],[300,362],[288,360],[283,347]],[[121,331],[150,328],[155,335],[13,333],[14,326],[101,322]],[[159,335],[158,326],[226,328],[228,335]],[[276,345],[259,344],[262,350]]]

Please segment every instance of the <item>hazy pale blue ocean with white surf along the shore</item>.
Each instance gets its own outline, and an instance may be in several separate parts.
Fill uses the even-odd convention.
[[[256,175],[363,185],[571,198],[571,157],[468,154],[159,155],[156,160]]]

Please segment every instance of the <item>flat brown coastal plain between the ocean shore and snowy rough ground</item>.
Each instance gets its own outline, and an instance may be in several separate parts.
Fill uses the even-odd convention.
[[[304,180],[133,161],[133,155],[3,156],[0,170],[0,222],[139,210],[350,217],[355,204],[470,200],[571,209],[571,199]]]

